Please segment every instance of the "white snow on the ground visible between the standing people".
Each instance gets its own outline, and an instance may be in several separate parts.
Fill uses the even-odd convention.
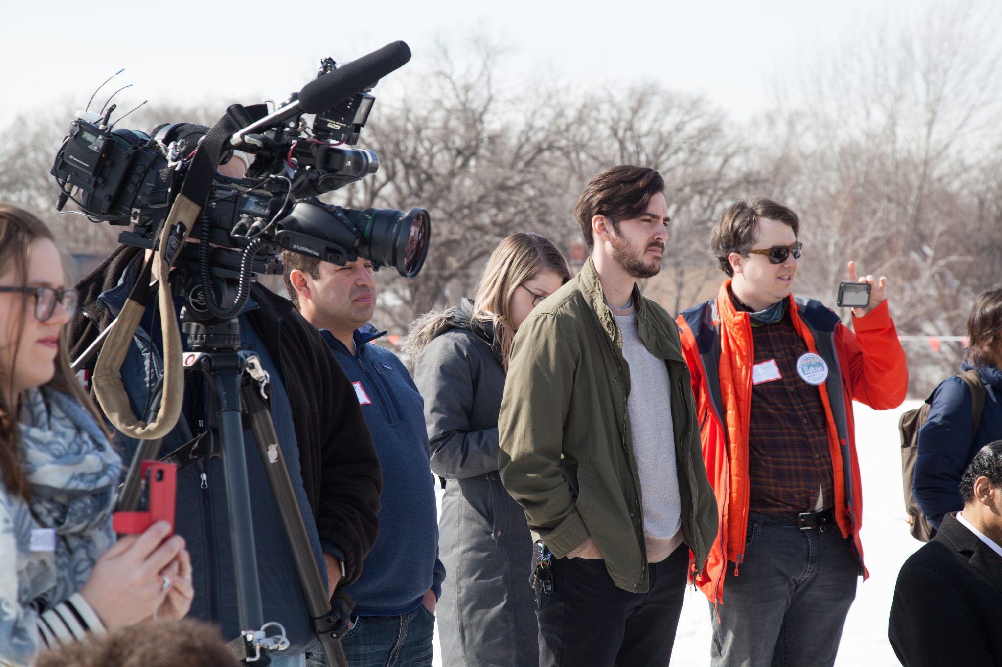
[[[859,580],[836,667],[893,667],[899,664],[887,639],[891,597],[902,563],[922,545],[909,534],[905,523],[898,419],[902,412],[919,405],[920,401],[907,401],[897,410],[878,412],[854,404],[856,445],[863,477],[861,537],[870,579]],[[678,621],[672,667],[708,665],[709,637],[708,602],[702,593],[688,589]],[[442,667],[437,636],[434,665]]]

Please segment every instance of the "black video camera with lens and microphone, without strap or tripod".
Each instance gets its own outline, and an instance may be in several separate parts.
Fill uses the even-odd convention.
[[[403,42],[342,67],[326,58],[318,78],[276,111],[269,114],[264,105],[227,109],[237,131],[225,137],[220,157],[238,148],[256,159],[243,178],[213,169],[206,200],[195,202],[202,212],[191,236],[230,251],[211,253],[213,264],[216,258],[222,265],[248,264],[246,257],[235,262],[232,251],[245,255],[253,248],[263,258],[248,264],[255,272],[276,273],[281,265],[269,260],[288,248],[337,264],[362,256],[377,268],[417,275],[428,252],[427,211],[357,211],[311,200],[379,169],[376,153],[345,144],[358,143],[376,81],[409,58]],[[133,225],[120,236],[123,243],[151,248],[195,156],[177,152],[186,124],[163,126],[152,137],[114,129],[114,108],[80,112],[70,123],[51,171],[61,188],[57,209],[72,199],[95,222]],[[314,114],[312,125],[307,114]],[[256,239],[263,242],[252,246]]]

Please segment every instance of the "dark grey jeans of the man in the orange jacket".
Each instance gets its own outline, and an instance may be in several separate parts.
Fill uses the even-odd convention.
[[[709,607],[712,667],[831,667],[860,564],[838,526],[771,524],[750,512],[744,562],[727,564],[723,602]],[[719,619],[717,619],[719,613]]]

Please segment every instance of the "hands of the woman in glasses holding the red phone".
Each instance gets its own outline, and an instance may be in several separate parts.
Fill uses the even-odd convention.
[[[164,541],[169,532],[167,522],[157,521],[142,535],[123,537],[94,564],[80,595],[107,629],[145,620],[163,604],[173,586],[164,589],[160,572],[184,548],[180,535]],[[187,567],[190,574],[190,562]]]

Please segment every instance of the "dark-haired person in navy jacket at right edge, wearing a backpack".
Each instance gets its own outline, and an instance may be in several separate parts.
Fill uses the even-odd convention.
[[[975,397],[964,378],[947,378],[929,397],[919,430],[912,493],[933,527],[964,506],[959,486],[967,464],[985,443],[1002,439],[1002,286],[978,295],[967,319],[968,346],[961,372],[981,385]],[[977,385],[975,385],[977,386]],[[981,418],[973,423],[975,398]]]

